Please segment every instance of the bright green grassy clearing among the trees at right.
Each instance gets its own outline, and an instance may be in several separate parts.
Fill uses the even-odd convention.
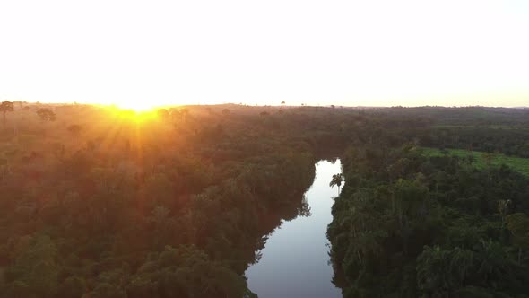
[[[429,156],[441,156],[444,153],[437,148],[422,148],[423,153]],[[461,150],[461,149],[447,149],[447,152],[451,155],[456,155],[460,157],[466,157],[469,154],[473,154],[474,156],[474,166],[478,169],[484,169],[487,167],[487,162],[484,157],[484,153],[482,152],[469,152],[467,150]],[[492,157],[490,158],[490,164],[492,165],[500,165],[500,164],[507,164],[507,166],[511,167],[515,171],[519,171],[523,173],[525,176],[529,176],[529,158],[521,158],[521,157],[514,157],[514,156],[508,156],[505,154],[499,154],[499,153],[493,153]]]

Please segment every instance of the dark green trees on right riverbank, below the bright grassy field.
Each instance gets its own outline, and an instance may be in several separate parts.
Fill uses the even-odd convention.
[[[344,295],[527,293],[529,179],[431,152],[366,145],[345,153],[346,183],[327,233]]]

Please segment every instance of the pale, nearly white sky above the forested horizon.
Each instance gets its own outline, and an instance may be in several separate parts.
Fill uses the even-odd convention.
[[[529,106],[529,1],[0,0],[0,100]]]

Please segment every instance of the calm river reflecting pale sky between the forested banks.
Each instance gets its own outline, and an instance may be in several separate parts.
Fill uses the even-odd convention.
[[[316,179],[305,193],[310,215],[282,222],[266,241],[262,259],[248,267],[249,288],[259,298],[342,297],[331,282],[326,238],[333,197],[338,195],[338,188],[330,188],[329,182],[341,171],[340,160],[317,163]]]

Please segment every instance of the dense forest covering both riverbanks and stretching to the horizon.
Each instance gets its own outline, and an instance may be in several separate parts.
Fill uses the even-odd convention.
[[[0,111],[0,297],[254,296],[245,270],[332,157],[345,297],[529,293],[528,178],[422,148],[528,157],[529,110]]]

